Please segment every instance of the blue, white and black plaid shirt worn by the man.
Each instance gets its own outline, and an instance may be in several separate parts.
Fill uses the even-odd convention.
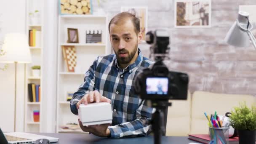
[[[135,94],[133,81],[139,71],[153,62],[142,56],[140,50],[138,53],[136,61],[125,69],[118,67],[115,54],[99,56],[85,73],[84,83],[70,102],[71,111],[77,115],[76,104],[89,91],[99,91],[111,99],[113,119],[108,128],[112,138],[147,136],[151,132],[149,123],[153,109]]]

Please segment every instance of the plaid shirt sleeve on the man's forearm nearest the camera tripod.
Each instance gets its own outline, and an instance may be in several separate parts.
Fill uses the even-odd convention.
[[[141,101],[136,111],[136,120],[122,123],[120,125],[109,126],[112,138],[121,138],[126,136],[147,136],[151,130],[151,117],[155,109],[148,107],[145,100]]]

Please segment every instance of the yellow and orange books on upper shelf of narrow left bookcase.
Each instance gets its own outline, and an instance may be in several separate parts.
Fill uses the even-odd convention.
[[[29,46],[31,47],[41,46],[41,31],[36,29],[29,30]]]

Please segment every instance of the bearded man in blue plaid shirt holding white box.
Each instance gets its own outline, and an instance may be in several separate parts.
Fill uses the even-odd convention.
[[[85,73],[81,85],[70,102],[71,111],[77,115],[80,104],[109,102],[112,105],[112,123],[83,126],[83,131],[96,136],[120,138],[146,136],[152,108],[135,94],[134,79],[138,72],[149,67],[152,61],[142,56],[140,21],[128,12],[119,13],[109,22],[109,35],[115,54],[99,56]]]

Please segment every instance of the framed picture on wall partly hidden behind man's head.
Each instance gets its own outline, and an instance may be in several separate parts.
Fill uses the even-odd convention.
[[[142,41],[145,42],[147,33],[147,7],[121,7],[121,12],[128,11],[140,19],[140,29],[142,32]]]

